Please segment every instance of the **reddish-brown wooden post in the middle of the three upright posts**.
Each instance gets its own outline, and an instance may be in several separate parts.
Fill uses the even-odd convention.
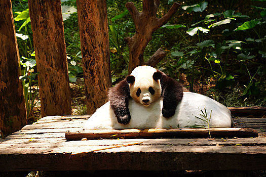
[[[70,115],[70,87],[60,0],[28,0],[42,117]]]

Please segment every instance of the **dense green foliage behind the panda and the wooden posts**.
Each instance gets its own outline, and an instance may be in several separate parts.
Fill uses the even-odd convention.
[[[83,77],[75,0],[62,0],[69,80]],[[107,0],[112,81],[125,77],[129,50],[124,37],[135,33],[124,0]],[[141,11],[142,1],[132,1]],[[161,1],[163,16],[174,0]],[[183,2],[177,1],[182,4]],[[29,108],[35,99],[36,63],[26,0],[12,1],[22,77]],[[189,91],[208,95],[226,106],[266,105],[266,1],[185,1],[153,34],[147,60],[158,48],[167,56],[158,68],[184,83]],[[32,108],[31,108],[32,109]]]

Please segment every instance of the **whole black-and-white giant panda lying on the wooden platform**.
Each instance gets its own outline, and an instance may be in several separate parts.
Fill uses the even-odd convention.
[[[182,128],[204,125],[231,127],[231,112],[200,94],[183,92],[176,80],[150,66],[138,66],[111,87],[108,102],[86,122],[86,129]],[[199,119],[200,117],[201,119]]]

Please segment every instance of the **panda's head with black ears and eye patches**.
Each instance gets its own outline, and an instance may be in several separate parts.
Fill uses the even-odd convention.
[[[161,97],[162,73],[150,66],[138,66],[126,78],[130,96],[143,106],[149,106]]]

